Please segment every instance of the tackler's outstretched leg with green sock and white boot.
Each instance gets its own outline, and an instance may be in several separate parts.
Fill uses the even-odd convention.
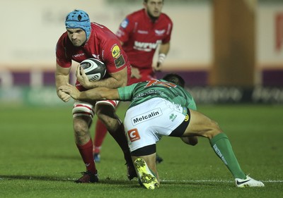
[[[214,121],[204,116],[204,114],[190,110],[190,123],[185,130],[184,136],[202,136],[209,139],[212,149],[217,156],[224,162],[233,177],[237,180],[247,180],[246,174],[242,171],[241,166],[236,159],[236,156],[231,147],[229,138],[221,131],[219,125]],[[251,179],[251,178],[250,178]],[[255,182],[254,182],[255,181]],[[264,186],[262,182],[254,180],[252,186]],[[246,184],[247,185],[247,184]],[[248,186],[248,185],[247,185]],[[241,186],[238,186],[241,187]]]

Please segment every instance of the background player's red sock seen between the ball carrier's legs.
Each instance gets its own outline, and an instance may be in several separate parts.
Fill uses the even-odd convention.
[[[96,132],[93,140],[93,153],[99,153],[100,147],[107,134],[107,128],[99,119],[96,122]]]

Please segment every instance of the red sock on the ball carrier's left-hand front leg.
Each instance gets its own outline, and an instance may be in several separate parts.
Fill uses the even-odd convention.
[[[78,147],[81,158],[86,164],[86,170],[96,174],[96,164],[93,160],[93,141],[89,140],[88,143],[84,145],[76,144],[76,147]]]

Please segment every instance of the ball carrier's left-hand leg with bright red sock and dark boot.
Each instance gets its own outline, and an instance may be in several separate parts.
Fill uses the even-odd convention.
[[[75,182],[98,182],[96,164],[93,161],[93,142],[89,132],[93,118],[92,105],[76,101],[73,108],[74,138],[76,147],[79,149],[83,163],[86,165],[86,172]]]

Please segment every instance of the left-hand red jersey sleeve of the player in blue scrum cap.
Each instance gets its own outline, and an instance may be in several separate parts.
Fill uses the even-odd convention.
[[[71,67],[71,58],[68,58],[66,55],[63,35],[59,38],[56,44],[56,62],[62,68]]]

